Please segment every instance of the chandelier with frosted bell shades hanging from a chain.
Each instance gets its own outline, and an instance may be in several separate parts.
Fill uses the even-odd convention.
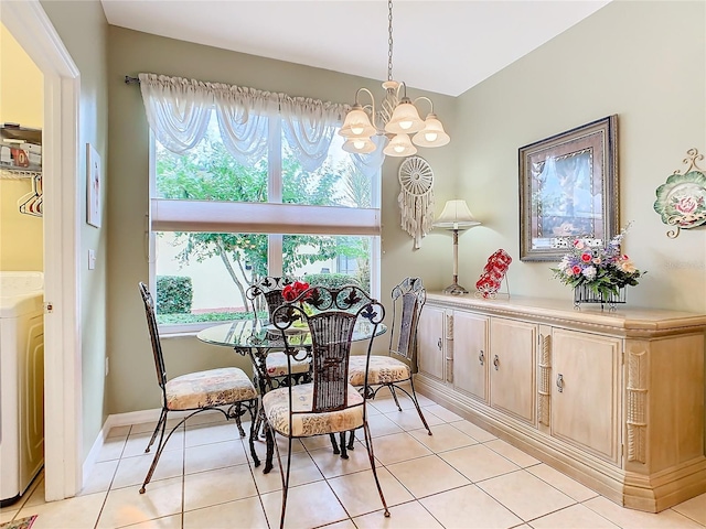
[[[383,150],[388,156],[409,156],[417,152],[419,147],[442,147],[451,139],[443,130],[441,121],[434,114],[434,102],[425,96],[417,97],[414,101],[407,97],[407,85],[393,79],[393,1],[387,2],[387,80],[383,83],[385,97],[378,111],[375,110],[375,98],[367,88],[359,88],[355,93],[355,105],[345,116],[343,127],[339,131],[345,142],[343,150],[365,154],[373,152],[376,147],[372,137],[384,134],[389,138],[389,143]],[[361,94],[367,94],[370,105],[361,105]],[[402,97],[400,97],[402,94]],[[430,111],[422,120],[419,117],[418,101],[427,101]],[[411,137],[411,138],[410,138]],[[414,144],[413,144],[414,143]]]

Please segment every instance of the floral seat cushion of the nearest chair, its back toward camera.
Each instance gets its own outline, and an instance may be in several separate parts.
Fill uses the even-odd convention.
[[[293,438],[345,432],[363,425],[363,397],[351,385],[349,408],[325,413],[297,413],[292,418]],[[311,411],[313,384],[300,384],[291,388],[295,411]],[[263,407],[269,423],[277,432],[289,435],[289,388],[279,388],[265,393]],[[353,408],[351,408],[353,407]]]

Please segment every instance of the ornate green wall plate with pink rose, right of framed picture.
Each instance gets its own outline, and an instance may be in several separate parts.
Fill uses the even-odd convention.
[[[706,174],[696,165],[704,155],[696,149],[687,151],[687,173],[675,171],[666,179],[666,183],[656,190],[657,199],[654,210],[662,216],[662,222],[674,226],[667,237],[675,238],[680,230],[695,228],[706,224]]]

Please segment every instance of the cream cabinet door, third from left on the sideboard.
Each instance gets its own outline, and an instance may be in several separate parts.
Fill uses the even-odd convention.
[[[491,317],[490,403],[535,424],[535,324]]]

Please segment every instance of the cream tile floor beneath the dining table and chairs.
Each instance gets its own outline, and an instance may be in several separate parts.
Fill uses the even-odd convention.
[[[328,438],[292,450],[288,528],[705,528],[706,494],[657,515],[624,509],[420,397],[434,436],[409,399],[371,402],[375,458],[392,512],[384,518],[360,438],[347,461]],[[255,468],[247,443],[220,413],[192,419],[170,440],[145,495],[153,424],[115,428],[81,495],[44,501],[38,479],[0,522],[39,515],[33,529],[278,527],[281,482]],[[284,445],[282,445],[284,446]],[[265,456],[265,443],[256,444]]]

